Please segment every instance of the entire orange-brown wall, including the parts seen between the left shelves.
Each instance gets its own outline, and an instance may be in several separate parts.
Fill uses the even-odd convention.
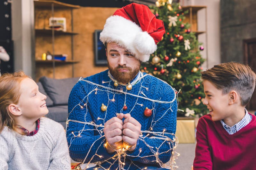
[[[87,77],[108,69],[94,64],[94,31],[103,29],[106,19],[118,8],[81,7],[73,9],[74,77]],[[51,9],[35,9],[35,29],[48,29]],[[66,17],[67,31],[71,32],[70,9],[55,9],[54,17]],[[71,60],[71,35],[55,35],[55,54],[68,54]],[[52,35],[38,34],[35,42],[35,58],[40,60],[42,53],[52,53]],[[55,78],[72,77],[72,64],[55,63]],[[36,63],[36,81],[42,76],[53,78],[52,63]]]

